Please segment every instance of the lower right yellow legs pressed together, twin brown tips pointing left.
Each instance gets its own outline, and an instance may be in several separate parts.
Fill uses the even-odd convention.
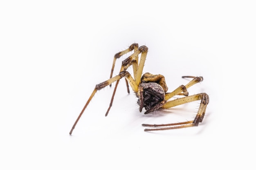
[[[197,95],[186,96],[183,98],[175,99],[172,101],[167,102],[162,108],[171,108],[174,106],[178,106],[181,104],[193,102],[201,100],[198,113],[195,116],[193,121],[184,121],[180,123],[173,123],[173,124],[142,124],[142,126],[149,126],[149,127],[159,127],[159,126],[171,126],[167,128],[156,128],[156,129],[144,129],[144,131],[153,131],[153,130],[169,130],[169,129],[178,129],[178,128],[186,128],[191,126],[198,126],[200,122],[202,122],[205,114],[205,110],[207,108],[207,104],[209,103],[209,96],[206,93],[200,93]],[[177,126],[178,125],[178,126]]]

